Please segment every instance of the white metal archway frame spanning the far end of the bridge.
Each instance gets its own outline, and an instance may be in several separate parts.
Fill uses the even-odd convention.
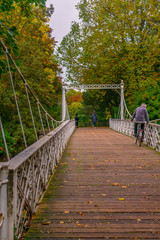
[[[66,112],[66,100],[65,100],[65,92],[66,90],[70,89],[77,89],[77,90],[89,90],[89,89],[120,89],[121,90],[121,120],[124,119],[124,82],[121,80],[120,84],[82,84],[82,85],[75,85],[75,84],[65,84],[62,85],[62,119],[65,117]]]

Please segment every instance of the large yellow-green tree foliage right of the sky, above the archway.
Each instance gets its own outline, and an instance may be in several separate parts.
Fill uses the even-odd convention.
[[[81,0],[77,9],[81,22],[72,24],[58,49],[68,80],[96,84],[120,83],[123,79],[125,98],[133,110],[140,102],[139,95],[142,100],[160,81],[159,0]],[[111,115],[111,104],[119,105],[118,94],[114,97],[115,102],[111,95],[104,96]],[[97,99],[97,109],[103,108],[104,113],[101,98]],[[151,116],[157,116],[151,104],[157,109],[158,102],[148,101]]]

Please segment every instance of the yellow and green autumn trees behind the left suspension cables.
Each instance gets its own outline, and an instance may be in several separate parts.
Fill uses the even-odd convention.
[[[55,41],[54,38],[51,37],[51,29],[48,25],[48,16],[53,12],[53,7],[50,7],[48,10],[46,7],[42,6],[43,3],[44,1],[37,0],[17,1],[16,4],[15,1],[13,6],[8,10],[6,9],[3,11],[0,16],[3,20],[4,27],[4,32],[1,33],[8,51],[11,53],[24,78],[27,80],[43,107],[52,117],[61,120],[60,102],[62,84],[61,79],[58,77],[60,68],[56,57],[53,54]],[[29,15],[26,11],[22,13],[22,7],[24,7],[25,4],[28,4]],[[9,32],[10,29],[13,30],[12,36],[10,35],[11,32]],[[12,37],[14,38],[14,41]],[[7,137],[6,135],[7,144],[9,144],[9,152],[11,156],[14,156],[24,149],[24,140],[20,128],[7,63],[1,45],[0,63],[0,113],[5,132],[6,134],[7,132],[10,134],[10,137]],[[26,97],[26,90],[13,63],[10,60],[9,63],[27,146],[29,146],[36,140],[36,137]],[[37,103],[31,96],[30,92],[28,93],[36,131],[38,137],[40,137],[42,135],[42,126],[40,123]],[[46,116],[42,111],[41,114],[45,132],[47,133],[49,129]],[[49,122],[49,124],[51,126],[51,122]],[[15,138],[16,145],[11,141],[13,137]]]

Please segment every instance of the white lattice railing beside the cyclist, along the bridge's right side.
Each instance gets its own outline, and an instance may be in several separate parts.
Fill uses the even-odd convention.
[[[130,120],[110,119],[109,126],[117,132],[133,136],[134,123]],[[144,143],[160,152],[160,125],[153,123],[145,125]]]

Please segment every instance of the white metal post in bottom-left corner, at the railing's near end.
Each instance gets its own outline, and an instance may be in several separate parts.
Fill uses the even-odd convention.
[[[0,239],[8,239],[8,217],[7,217],[7,179],[8,163],[0,165]]]

